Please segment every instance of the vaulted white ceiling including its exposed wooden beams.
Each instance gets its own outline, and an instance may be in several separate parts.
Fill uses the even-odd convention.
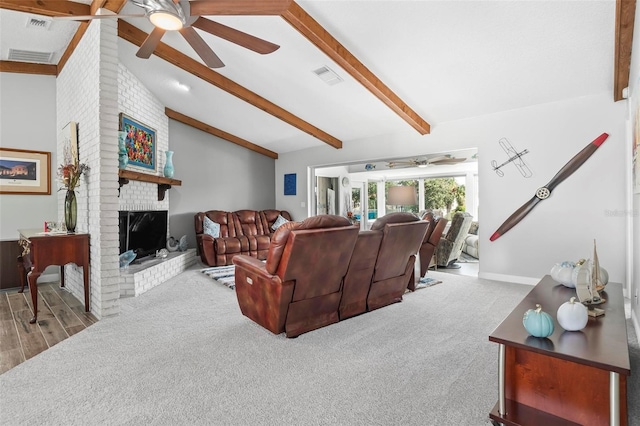
[[[277,158],[327,144],[608,91],[628,85],[635,0],[304,1],[200,0],[205,18],[276,43],[261,55],[196,30],[224,62],[204,65],[176,32],[149,59],[136,57],[153,26],[118,20],[120,61],[175,120]],[[249,15],[230,16],[238,4]],[[99,8],[142,9],[126,0],[0,0],[0,71],[56,75],[87,21],[51,19]],[[256,9],[257,8],[257,9]],[[268,15],[253,16],[258,11]],[[28,26],[31,18],[43,23]],[[113,19],[113,18],[111,18]],[[39,63],[10,49],[49,52]],[[327,67],[329,85],[313,71]],[[428,143],[428,137],[425,143]]]

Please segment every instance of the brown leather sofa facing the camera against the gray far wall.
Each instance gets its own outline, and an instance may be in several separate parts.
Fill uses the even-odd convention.
[[[205,216],[220,225],[217,238],[204,233]],[[266,259],[274,233],[271,227],[278,216],[291,220],[291,215],[285,210],[209,210],[196,213],[194,222],[200,259],[209,266],[231,265],[233,257],[240,254]]]

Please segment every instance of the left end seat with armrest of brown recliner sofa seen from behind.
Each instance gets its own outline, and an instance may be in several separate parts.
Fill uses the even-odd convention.
[[[338,322],[343,279],[357,239],[358,228],[341,216],[285,223],[271,239],[266,262],[233,257],[242,314],[287,337]]]

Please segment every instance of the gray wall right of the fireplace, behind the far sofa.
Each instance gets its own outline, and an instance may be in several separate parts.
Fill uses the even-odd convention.
[[[196,246],[193,217],[207,210],[275,208],[275,160],[169,120],[175,177],[169,190],[169,232]]]

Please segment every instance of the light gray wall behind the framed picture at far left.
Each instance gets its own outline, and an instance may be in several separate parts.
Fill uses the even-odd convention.
[[[57,220],[56,78],[0,72],[0,146],[51,153],[51,195],[0,195],[0,239]]]

